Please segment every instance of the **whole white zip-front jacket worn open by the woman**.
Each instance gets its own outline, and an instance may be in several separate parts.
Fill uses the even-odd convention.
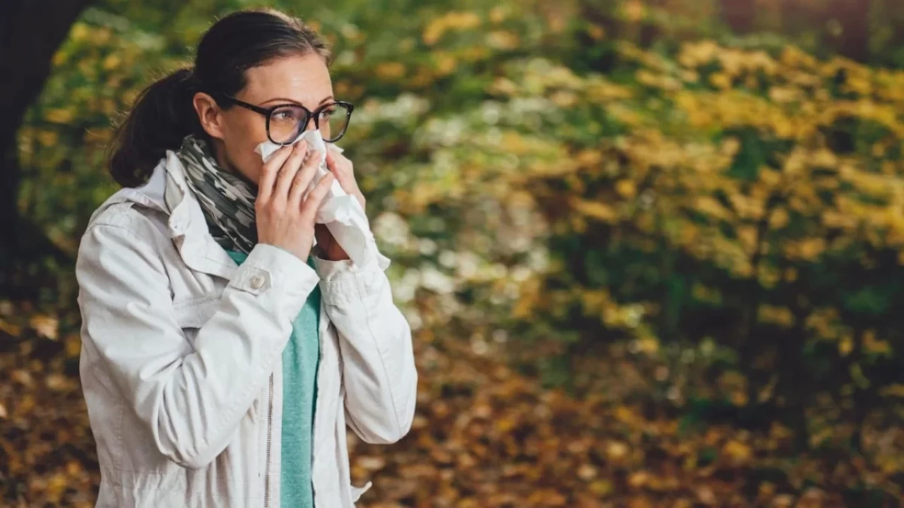
[[[268,245],[237,266],[172,152],[148,183],[110,197],[76,264],[97,506],[278,508],[282,351],[319,285],[315,504],[353,507],[363,489],[350,484],[346,422],[392,443],[414,416],[410,328],[388,266],[377,255],[367,266],[315,259],[315,270]]]

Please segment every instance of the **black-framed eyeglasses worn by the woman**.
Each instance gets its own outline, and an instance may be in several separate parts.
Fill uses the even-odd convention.
[[[335,143],[345,135],[345,129],[348,128],[354,110],[353,104],[342,101],[324,104],[311,111],[298,104],[278,104],[270,108],[261,108],[224,95],[217,99],[223,99],[267,117],[267,137],[277,145],[290,145],[306,129],[311,118],[314,118],[314,126],[320,129],[324,141]]]

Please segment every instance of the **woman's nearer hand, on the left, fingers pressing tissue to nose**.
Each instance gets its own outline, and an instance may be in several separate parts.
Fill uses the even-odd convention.
[[[258,199],[254,204],[258,241],[287,250],[307,261],[314,246],[317,210],[335,178],[325,174],[305,199],[317,171],[319,158],[307,153],[307,142],[283,146],[269,158],[260,174]]]

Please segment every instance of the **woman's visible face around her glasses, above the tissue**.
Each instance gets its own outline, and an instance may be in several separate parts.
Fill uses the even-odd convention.
[[[315,111],[334,101],[330,73],[324,59],[316,53],[279,58],[245,71],[245,76],[248,85],[234,98],[260,108],[297,104]],[[197,100],[195,108],[199,109]],[[217,161],[227,170],[258,183],[263,163],[254,149],[268,141],[267,117],[239,106],[200,108],[199,113],[212,138]],[[306,128],[316,128],[313,118]]]

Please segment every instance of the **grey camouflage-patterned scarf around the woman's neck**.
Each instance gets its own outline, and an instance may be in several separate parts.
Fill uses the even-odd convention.
[[[213,240],[223,249],[249,253],[258,243],[254,219],[257,190],[217,164],[202,139],[185,136],[176,155],[188,187],[201,203]]]

